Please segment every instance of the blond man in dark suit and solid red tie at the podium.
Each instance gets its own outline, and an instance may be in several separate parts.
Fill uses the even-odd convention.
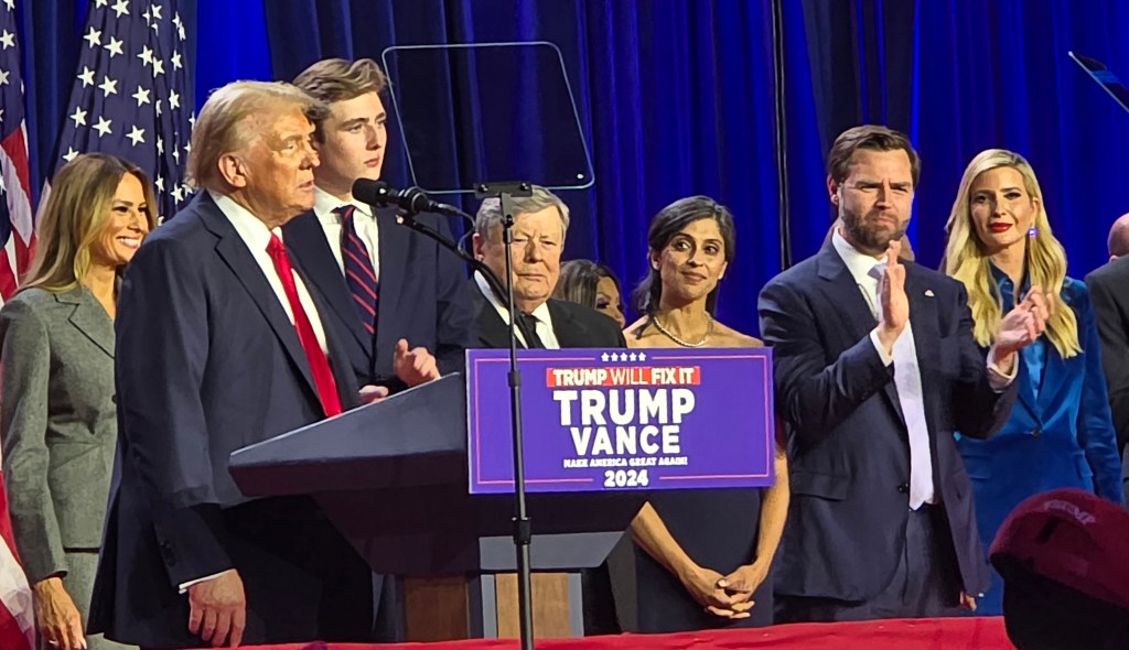
[[[367,639],[370,572],[308,497],[248,501],[233,451],[355,406],[325,299],[280,227],[314,204],[312,117],[286,84],[216,90],[201,188],[122,284],[119,447],[89,629],[148,648]]]

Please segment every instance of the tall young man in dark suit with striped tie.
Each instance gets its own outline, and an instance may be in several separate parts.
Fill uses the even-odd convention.
[[[355,181],[384,167],[384,72],[371,59],[326,59],[295,85],[329,112],[315,123],[314,208],[286,226],[286,243],[325,292],[359,383],[394,393],[461,371],[474,319],[462,261],[352,196]],[[450,235],[444,217],[417,220]]]

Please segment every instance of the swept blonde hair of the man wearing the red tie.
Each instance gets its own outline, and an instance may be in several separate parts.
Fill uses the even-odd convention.
[[[204,103],[192,129],[186,182],[194,188],[226,193],[219,172],[225,153],[240,151],[257,135],[251,117],[271,120],[298,109],[313,123],[325,118],[325,105],[300,88],[282,81],[233,81],[218,88]]]

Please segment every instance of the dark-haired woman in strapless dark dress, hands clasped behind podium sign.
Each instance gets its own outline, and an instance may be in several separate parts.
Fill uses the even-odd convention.
[[[714,319],[718,282],[735,251],[733,216],[704,196],[679,200],[651,221],[650,271],[636,290],[644,317],[629,348],[760,348]],[[772,623],[769,569],[788,513],[788,462],[763,490],[656,492],[636,516],[639,632]]]

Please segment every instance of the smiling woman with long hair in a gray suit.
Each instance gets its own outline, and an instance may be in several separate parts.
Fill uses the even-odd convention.
[[[117,278],[156,205],[132,162],[75,158],[41,210],[28,276],[0,309],[3,480],[41,647],[52,650],[122,648],[84,630],[117,441]]]

